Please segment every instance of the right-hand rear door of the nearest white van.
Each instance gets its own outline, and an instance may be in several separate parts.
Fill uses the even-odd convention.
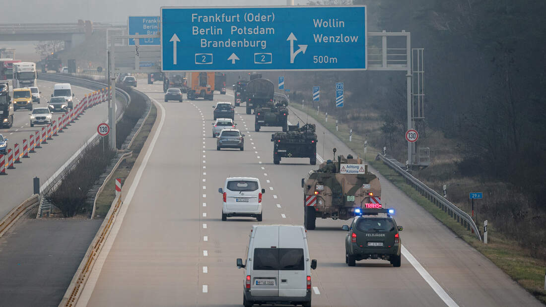
[[[304,297],[307,294],[307,273],[304,233],[300,227],[279,227],[278,296]]]

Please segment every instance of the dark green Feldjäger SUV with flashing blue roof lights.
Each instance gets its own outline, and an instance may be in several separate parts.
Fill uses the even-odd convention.
[[[360,211],[360,212],[357,212]],[[383,259],[394,267],[400,267],[400,241],[397,226],[390,216],[393,209],[355,209],[351,226],[343,225],[348,231],[345,239],[345,263],[353,267],[357,260]]]

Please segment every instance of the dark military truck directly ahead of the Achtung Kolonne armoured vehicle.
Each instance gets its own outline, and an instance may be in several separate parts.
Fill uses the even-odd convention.
[[[271,135],[273,142],[273,163],[279,164],[281,158],[309,158],[311,165],[317,164],[317,135],[314,124],[301,128],[289,125],[288,132]]]

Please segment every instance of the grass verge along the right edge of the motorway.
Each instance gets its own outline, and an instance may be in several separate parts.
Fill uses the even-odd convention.
[[[363,156],[364,154],[364,138],[353,133],[353,142],[349,142],[349,128],[346,125],[340,124],[339,131],[336,131],[335,118],[329,116],[328,123],[325,122],[324,113],[317,115],[316,110],[310,110],[308,107],[302,108],[299,104],[290,104],[296,110],[305,112],[310,117],[314,118],[318,123],[321,123],[331,133],[339,137],[343,143],[351,148],[355,153]],[[507,273],[513,280],[517,281],[525,290],[529,291],[533,296],[546,304],[546,290],[544,290],[544,272],[546,265],[543,261],[537,260],[530,256],[528,250],[521,249],[517,242],[501,236],[495,232],[492,227],[488,228],[489,238],[488,244],[480,242],[474,234],[468,232],[456,220],[436,207],[426,197],[422,196],[411,185],[407,184],[405,179],[393,169],[383,164],[381,161],[376,161],[374,158],[378,150],[368,145],[368,153],[366,154],[366,162],[374,167],[379,173],[387,178],[391,183],[402,190],[413,201],[417,202],[425,210],[431,213],[436,219],[440,220],[444,225],[455,232],[465,242],[472,245],[473,248],[481,252],[485,257],[488,257],[497,267]]]

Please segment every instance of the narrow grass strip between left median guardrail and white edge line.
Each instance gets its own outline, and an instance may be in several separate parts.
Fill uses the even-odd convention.
[[[104,216],[106,216],[108,210],[110,210],[110,205],[112,204],[112,201],[114,201],[114,197],[116,196],[115,178],[121,178],[122,185],[125,183],[125,180],[129,176],[129,173],[132,170],[133,165],[138,158],[142,147],[144,146],[144,142],[146,142],[148,135],[150,135],[153,124],[156,122],[156,117],[157,109],[156,106],[152,104],[152,107],[150,109],[150,115],[144,122],[142,129],[140,129],[139,133],[135,135],[135,139],[133,141],[133,144],[131,145],[130,149],[133,151],[133,155],[126,159],[117,168],[114,174],[112,174],[110,180],[106,182],[103,191],[98,195],[97,207],[95,209],[94,218],[102,219],[104,218]]]

